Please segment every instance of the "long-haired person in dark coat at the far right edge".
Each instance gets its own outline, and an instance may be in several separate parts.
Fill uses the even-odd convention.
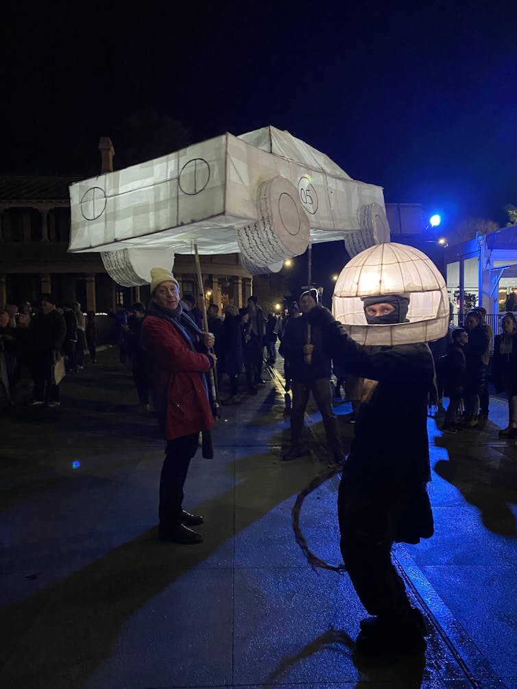
[[[505,391],[508,400],[508,425],[499,431],[501,437],[517,435],[517,321],[511,311],[501,320],[503,332],[494,339],[492,377],[496,392]]]

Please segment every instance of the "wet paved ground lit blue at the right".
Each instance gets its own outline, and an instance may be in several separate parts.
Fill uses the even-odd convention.
[[[296,494],[328,461],[318,414],[307,418],[312,455],[282,463],[276,376],[222,407],[216,455],[196,457],[185,490],[204,542],[165,544],[163,443],[136,409],[130,371],[114,351],[99,360],[65,379],[61,407],[0,417],[1,687],[517,689],[517,447],[497,435],[505,402],[491,400],[483,430],[442,435],[429,418],[436,533],[394,551],[431,622],[427,653],[365,664],[352,641],[365,613],[347,575],[314,572],[292,533]],[[349,411],[336,406],[345,442]],[[337,484],[301,515],[312,551],[335,564]]]

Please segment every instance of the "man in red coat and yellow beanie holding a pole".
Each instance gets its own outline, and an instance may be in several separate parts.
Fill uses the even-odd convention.
[[[203,538],[188,527],[203,524],[203,517],[183,510],[183,485],[200,431],[214,425],[205,381],[205,373],[216,362],[207,351],[214,336],[203,333],[183,313],[179,285],[170,271],[151,269],[151,294],[140,343],[156,418],[167,441],[160,477],[159,537],[196,544]]]

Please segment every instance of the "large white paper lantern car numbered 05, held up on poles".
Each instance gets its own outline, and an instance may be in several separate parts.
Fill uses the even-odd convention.
[[[256,274],[278,270],[309,241],[362,232],[361,209],[383,212],[384,200],[381,187],[353,180],[289,132],[263,127],[77,182],[70,205],[71,252],[192,254],[195,243],[200,254],[240,252]]]

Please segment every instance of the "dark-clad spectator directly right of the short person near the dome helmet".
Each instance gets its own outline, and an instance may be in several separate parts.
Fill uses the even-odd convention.
[[[483,358],[487,351],[488,333],[481,322],[479,311],[469,311],[465,318],[469,341],[465,345],[467,378],[465,380],[465,426],[476,428],[478,422],[479,400],[485,387],[485,364]]]

